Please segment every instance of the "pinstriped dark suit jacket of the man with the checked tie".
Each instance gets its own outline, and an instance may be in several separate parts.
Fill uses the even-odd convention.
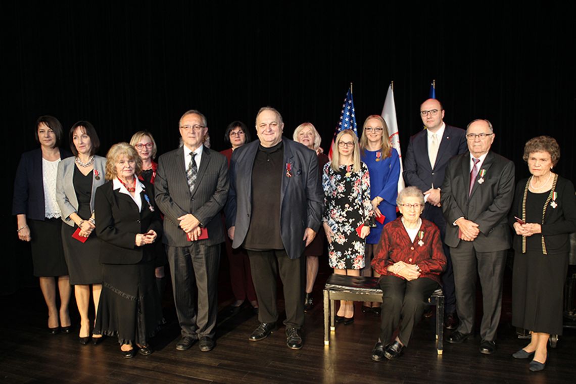
[[[170,246],[188,246],[186,234],[179,227],[178,218],[192,214],[200,226],[208,230],[208,238],[198,240],[206,245],[224,241],[222,219],[218,213],[228,196],[228,160],[207,147],[202,149],[202,160],[196,177],[194,191],[190,193],[186,180],[184,149],[179,148],[158,158],[154,179],[156,204],[164,214],[162,242]]]

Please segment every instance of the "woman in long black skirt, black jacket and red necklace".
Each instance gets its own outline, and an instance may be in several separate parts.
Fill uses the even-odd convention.
[[[132,358],[136,347],[146,356],[152,353],[148,339],[162,322],[153,245],[162,223],[152,184],[136,177],[142,159],[134,147],[115,144],[106,157],[108,181],[96,191],[104,287],[94,333],[118,336],[124,358]]]

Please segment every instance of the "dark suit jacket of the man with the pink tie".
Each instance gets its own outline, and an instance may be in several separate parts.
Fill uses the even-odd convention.
[[[486,170],[483,182],[480,173]],[[489,151],[478,172],[468,196],[470,186],[470,153],[453,157],[448,162],[440,201],[446,219],[444,242],[458,246],[458,226],[453,223],[464,217],[478,224],[480,233],[474,239],[477,252],[495,252],[510,248],[510,229],[507,215],[514,199],[514,163]]]

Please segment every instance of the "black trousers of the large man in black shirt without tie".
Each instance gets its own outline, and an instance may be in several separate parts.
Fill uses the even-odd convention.
[[[258,321],[278,321],[276,307],[276,269],[284,286],[286,328],[304,325],[302,258],[291,259],[283,249],[248,250],[252,280],[258,299]]]

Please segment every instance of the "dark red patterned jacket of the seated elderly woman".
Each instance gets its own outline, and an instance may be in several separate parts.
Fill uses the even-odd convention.
[[[442,251],[440,231],[434,223],[425,219],[422,219],[420,231],[423,231],[422,246],[418,244],[419,235],[416,235],[414,242],[410,241],[401,218],[386,224],[374,252],[374,270],[380,275],[394,275],[388,272],[388,267],[402,260],[407,264],[417,264],[420,277],[428,277],[441,284],[439,275],[446,267],[446,256]]]

